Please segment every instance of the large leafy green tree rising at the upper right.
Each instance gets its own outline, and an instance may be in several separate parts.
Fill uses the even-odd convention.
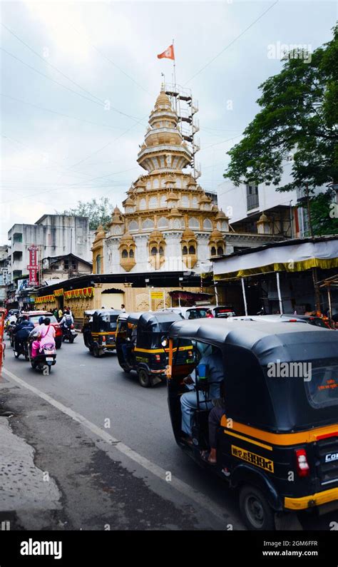
[[[228,152],[225,178],[235,185],[279,185],[283,162],[292,155],[292,180],[278,190],[308,187],[311,196],[315,187],[337,183],[338,26],[312,54],[295,49],[285,56],[282,71],[260,90],[260,111]]]

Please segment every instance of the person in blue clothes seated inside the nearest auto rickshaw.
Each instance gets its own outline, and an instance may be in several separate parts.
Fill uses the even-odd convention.
[[[206,365],[208,368],[209,392],[199,392],[200,402],[203,403],[203,407],[205,407],[205,409],[211,409],[213,407],[211,400],[219,399],[221,397],[221,384],[224,380],[223,359],[220,349],[212,346],[210,354],[207,354],[200,359],[197,371],[198,367],[202,365]],[[195,409],[198,407],[197,394],[195,390],[182,394],[180,397],[180,406],[182,413],[181,429],[186,435],[184,441],[185,443],[192,445],[192,419]]]

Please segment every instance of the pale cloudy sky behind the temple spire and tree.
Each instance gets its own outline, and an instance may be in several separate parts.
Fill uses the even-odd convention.
[[[0,244],[14,223],[108,197],[121,206],[145,170],[148,116],[173,64],[198,101],[205,190],[279,73],[280,46],[332,38],[337,3],[268,1],[1,1]],[[226,208],[224,196],[219,202]]]

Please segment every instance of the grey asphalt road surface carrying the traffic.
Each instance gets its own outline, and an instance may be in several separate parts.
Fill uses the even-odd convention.
[[[121,370],[116,354],[92,357],[81,334],[58,350],[47,377],[23,357],[14,359],[6,344],[0,401],[14,410],[14,431],[35,447],[41,470],[50,471],[63,494],[58,525],[102,529],[107,520],[100,514],[107,518],[110,498],[118,494],[114,506],[124,515],[113,528],[244,529],[235,491],[175,444],[165,384],[140,387],[135,374]],[[116,488],[123,476],[128,486]],[[135,506],[143,523],[132,520]],[[302,524],[329,529],[332,518],[305,517]],[[48,521],[35,527],[46,526]]]

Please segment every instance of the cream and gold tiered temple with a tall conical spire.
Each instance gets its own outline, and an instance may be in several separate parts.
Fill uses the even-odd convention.
[[[215,194],[207,195],[196,175],[184,171],[194,161],[179,120],[163,86],[138,152],[146,173],[127,191],[124,211],[113,210],[107,232],[96,230],[93,273],[201,274],[211,270],[210,257],[283,237],[230,230]]]

